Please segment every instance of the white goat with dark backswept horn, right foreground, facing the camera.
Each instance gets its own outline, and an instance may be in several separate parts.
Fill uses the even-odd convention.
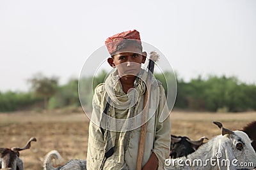
[[[256,153],[252,141],[242,131],[230,131],[213,122],[222,134],[200,146],[198,150],[177,159],[166,159],[165,169],[253,169]],[[241,167],[244,165],[243,167]]]

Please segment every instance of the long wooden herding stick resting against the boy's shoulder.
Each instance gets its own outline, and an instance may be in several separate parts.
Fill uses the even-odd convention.
[[[147,119],[148,119],[148,105],[150,99],[150,90],[151,90],[151,83],[152,83],[152,75],[154,72],[154,62],[158,59],[159,55],[156,52],[150,52],[150,60],[148,63],[148,74],[146,80],[146,92],[143,101],[143,112],[142,112],[142,122],[145,122],[141,126],[140,132],[140,143],[139,143],[139,150],[138,150],[138,157],[137,157],[137,170],[141,170],[142,167],[142,159],[143,153],[145,148],[145,139],[147,134]]]

